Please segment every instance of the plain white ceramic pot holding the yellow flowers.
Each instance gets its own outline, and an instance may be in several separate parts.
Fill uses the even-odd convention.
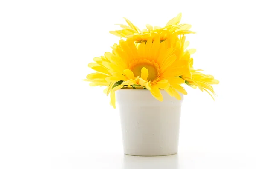
[[[155,99],[147,89],[116,91],[125,154],[160,156],[177,153],[183,95],[177,100],[164,90],[161,93],[163,102]]]

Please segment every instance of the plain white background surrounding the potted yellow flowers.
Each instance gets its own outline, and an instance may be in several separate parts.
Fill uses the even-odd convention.
[[[182,12],[196,69],[220,84],[188,89],[177,155],[123,155],[118,109],[83,79],[127,17],[165,26]],[[0,169],[255,169],[253,0],[1,0]]]

